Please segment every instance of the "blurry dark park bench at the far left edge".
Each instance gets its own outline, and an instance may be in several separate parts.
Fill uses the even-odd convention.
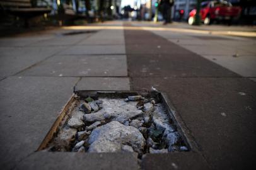
[[[25,26],[28,26],[29,19],[50,13],[51,8],[32,5],[32,1],[30,0],[0,0],[0,10],[3,13],[23,18],[25,20]]]

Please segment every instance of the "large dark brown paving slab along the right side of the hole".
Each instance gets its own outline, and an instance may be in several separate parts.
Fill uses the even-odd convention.
[[[155,83],[168,94],[212,167],[252,166],[255,82],[246,78],[132,78],[137,91],[150,89]]]

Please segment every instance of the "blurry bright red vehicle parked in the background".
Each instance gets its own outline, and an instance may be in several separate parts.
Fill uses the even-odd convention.
[[[189,13],[189,25],[195,21],[196,9]],[[212,21],[226,20],[232,21],[238,19],[241,13],[239,6],[232,6],[227,1],[205,1],[201,3],[201,19],[205,25],[209,25]]]

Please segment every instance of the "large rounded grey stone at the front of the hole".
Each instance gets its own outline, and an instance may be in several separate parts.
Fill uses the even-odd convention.
[[[118,152],[122,144],[131,145],[136,152],[141,152],[145,139],[141,132],[134,127],[127,127],[117,121],[97,127],[91,132],[88,152]]]

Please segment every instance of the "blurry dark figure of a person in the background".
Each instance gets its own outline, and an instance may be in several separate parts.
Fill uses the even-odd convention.
[[[171,8],[173,6],[173,0],[161,0],[160,2],[164,25],[171,22]]]

